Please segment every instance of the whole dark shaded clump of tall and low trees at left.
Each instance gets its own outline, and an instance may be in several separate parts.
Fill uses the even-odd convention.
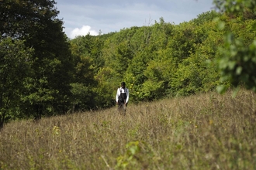
[[[74,66],[55,4],[0,2],[1,122],[65,113],[70,107]]]

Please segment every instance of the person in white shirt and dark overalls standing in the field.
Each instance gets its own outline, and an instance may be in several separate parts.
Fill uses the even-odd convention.
[[[116,91],[116,104],[118,105],[118,110],[123,108],[124,113],[129,101],[129,90],[126,88],[126,83],[122,82],[121,87]]]

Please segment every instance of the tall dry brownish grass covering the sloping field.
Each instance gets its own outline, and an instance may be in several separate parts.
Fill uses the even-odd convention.
[[[254,93],[206,93],[16,121],[0,169],[256,169]]]

